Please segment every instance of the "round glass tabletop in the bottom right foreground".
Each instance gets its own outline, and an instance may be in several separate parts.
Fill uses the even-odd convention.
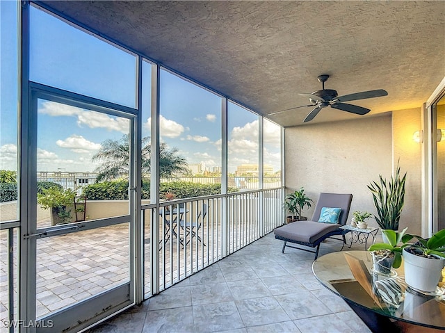
[[[374,273],[372,267],[371,252],[343,251],[319,257],[312,264],[312,271],[373,332],[445,329],[445,287],[438,286],[437,292],[426,295],[405,284],[403,263],[389,275]]]

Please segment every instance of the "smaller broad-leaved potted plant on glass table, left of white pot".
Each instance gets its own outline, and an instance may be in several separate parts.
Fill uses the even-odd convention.
[[[376,273],[389,275],[391,267],[399,268],[402,263],[402,250],[405,247],[403,236],[408,228],[401,232],[395,232],[391,229],[382,230],[382,233],[388,239],[388,243],[375,243],[369,247],[373,257],[373,270]],[[402,243],[401,246],[398,246]]]

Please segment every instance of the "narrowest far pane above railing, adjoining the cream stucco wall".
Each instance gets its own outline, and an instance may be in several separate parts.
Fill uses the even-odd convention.
[[[264,118],[263,122],[264,188],[281,186],[281,127]]]

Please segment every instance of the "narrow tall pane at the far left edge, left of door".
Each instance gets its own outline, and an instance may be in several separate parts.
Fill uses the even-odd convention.
[[[0,222],[17,220],[18,1],[0,1]]]

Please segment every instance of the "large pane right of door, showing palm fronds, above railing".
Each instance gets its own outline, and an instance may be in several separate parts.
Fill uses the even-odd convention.
[[[161,197],[220,193],[221,98],[165,70],[160,89]],[[179,193],[178,181],[204,186]]]

